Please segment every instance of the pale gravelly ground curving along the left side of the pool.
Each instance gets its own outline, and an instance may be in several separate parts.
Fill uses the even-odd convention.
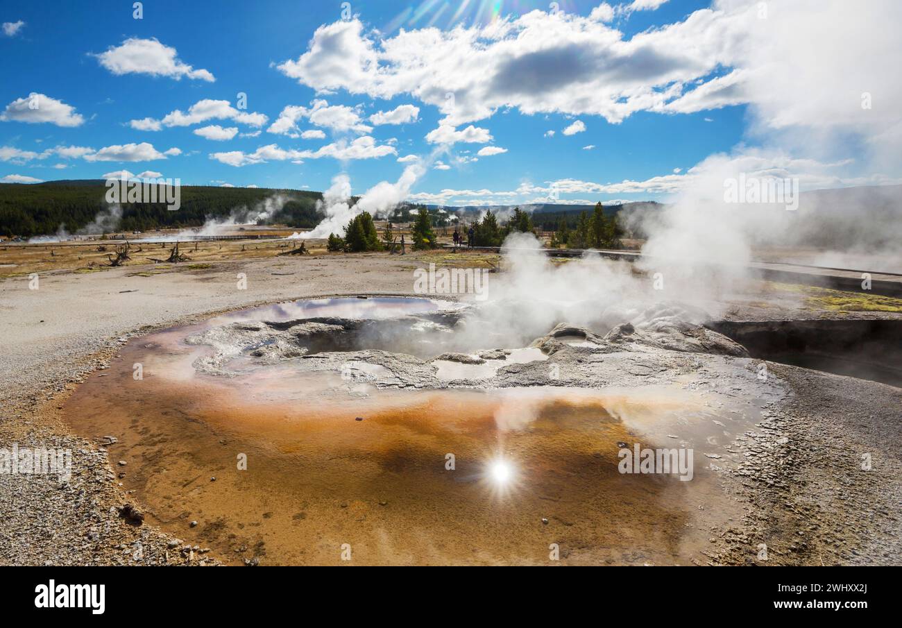
[[[364,258],[364,259],[361,259]],[[0,282],[0,447],[72,451],[72,477],[0,474],[0,563],[5,565],[216,564],[120,515],[130,497],[102,443],[72,435],[60,406],[83,377],[105,368],[128,337],[262,302],[324,294],[412,290],[410,258],[329,258],[153,266]],[[237,289],[244,272],[246,290]],[[115,464],[115,463],[113,463]],[[136,504],[134,504],[136,505]]]

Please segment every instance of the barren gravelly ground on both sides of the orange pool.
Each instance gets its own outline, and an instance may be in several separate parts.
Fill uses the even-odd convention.
[[[240,243],[228,246],[240,248]],[[248,246],[246,257],[255,256]],[[429,261],[447,263],[444,253],[226,262],[211,254],[200,263],[135,263],[73,272],[52,270],[53,260],[32,269],[21,261],[8,262],[4,255],[0,251],[0,265],[20,264],[20,272],[0,280],[0,444],[71,448],[77,470],[65,485],[42,476],[0,475],[0,562],[38,565],[216,564],[234,559],[202,552],[206,548],[189,529],[176,539],[149,523],[133,526],[121,518],[118,509],[124,503],[143,504],[116,477],[120,469],[107,458],[102,443],[78,437],[61,416],[76,385],[86,374],[106,368],[129,337],[266,302],[409,294],[414,268]],[[25,271],[41,272],[37,290],[30,290]],[[246,275],[245,290],[238,288],[239,273]],[[728,305],[727,318],[899,316],[896,300],[885,311],[857,311],[860,303],[851,309],[835,307],[834,299],[842,294],[775,291],[765,284],[755,288]],[[852,297],[858,295],[848,295]],[[758,432],[740,443],[751,464],[745,474],[724,474],[723,487],[745,516],[712,537],[703,562],[755,562],[758,544],[766,542],[774,549],[769,564],[898,564],[899,389],[793,367],[772,369],[792,394],[780,416],[759,432],[785,435],[791,446],[775,452]],[[874,460],[868,473],[860,471],[862,452]]]

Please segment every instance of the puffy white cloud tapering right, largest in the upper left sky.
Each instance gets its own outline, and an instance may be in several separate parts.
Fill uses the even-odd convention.
[[[94,55],[100,65],[116,75],[150,74],[154,77],[170,77],[179,80],[182,77],[199,78],[213,82],[213,77],[206,69],[194,69],[177,57],[174,48],[152,39],[132,37],[120,46],[111,47],[108,51]]]

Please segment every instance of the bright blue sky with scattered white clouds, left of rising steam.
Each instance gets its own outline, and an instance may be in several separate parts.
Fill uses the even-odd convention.
[[[750,97],[739,93],[731,64],[738,53],[723,51],[713,30],[736,29],[728,31],[727,16],[708,10],[708,3],[370,1],[352,2],[343,14],[340,2],[148,0],[140,20],[124,2],[88,8],[4,0],[0,6],[5,180],[100,178],[125,169],[159,172],[183,184],[327,189],[345,173],[359,194],[382,180],[399,180],[412,161],[398,159],[415,155],[421,169],[403,189],[411,199],[528,202],[547,196],[551,182],[560,180],[572,182],[557,191],[563,201],[663,199],[710,155],[767,143],[749,133]],[[534,10],[542,14],[530,14]],[[454,27],[458,33],[439,35],[437,43],[414,40],[425,37],[430,23],[446,35]],[[490,30],[500,23],[508,25],[505,32]],[[678,29],[671,33],[672,24]],[[400,28],[406,39],[398,38]],[[545,41],[549,29],[559,34]],[[126,42],[156,48],[130,60]],[[390,49],[397,56],[386,56]],[[98,56],[104,53],[106,62]],[[166,66],[167,54],[176,69]],[[399,58],[407,67],[391,69]],[[603,84],[594,82],[594,73],[604,75]],[[442,106],[446,86],[457,95],[455,111]],[[73,109],[29,122],[35,118],[20,99],[32,93]],[[233,114],[262,114],[264,124],[235,116],[165,122],[205,99],[235,107],[239,93],[246,94],[246,109],[233,108]],[[287,133],[275,133],[272,125],[287,106],[304,113],[288,123]],[[335,109],[341,106],[347,108]],[[415,119],[370,121],[398,106],[417,107]],[[317,107],[330,114],[319,124],[311,115]],[[349,112],[361,128],[336,125],[336,115]],[[159,130],[134,127],[132,121],[145,118]],[[577,121],[584,131],[565,134]],[[473,126],[482,137],[428,141],[443,125],[452,131]],[[225,141],[195,134],[210,126],[212,133],[237,131]],[[298,136],[304,131],[320,133],[304,139]],[[361,138],[365,158],[312,156]],[[134,149],[143,143],[152,150]],[[280,156],[259,152],[273,144]],[[69,158],[54,152],[69,146],[81,150]],[[506,152],[477,156],[486,147]],[[377,152],[381,156],[369,156]],[[662,177],[671,180],[656,179]],[[606,187],[624,180],[636,185]]]

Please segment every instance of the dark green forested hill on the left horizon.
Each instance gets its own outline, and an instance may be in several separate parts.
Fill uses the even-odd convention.
[[[23,185],[0,183],[0,235],[55,234],[60,229],[76,233],[108,212],[104,180],[59,180]],[[207,218],[227,219],[246,215],[274,199],[272,221],[297,228],[316,226],[321,217],[316,202],[320,192],[299,189],[218,188],[181,186],[181,207],[123,203],[117,230],[149,231],[164,227],[201,226]]]

